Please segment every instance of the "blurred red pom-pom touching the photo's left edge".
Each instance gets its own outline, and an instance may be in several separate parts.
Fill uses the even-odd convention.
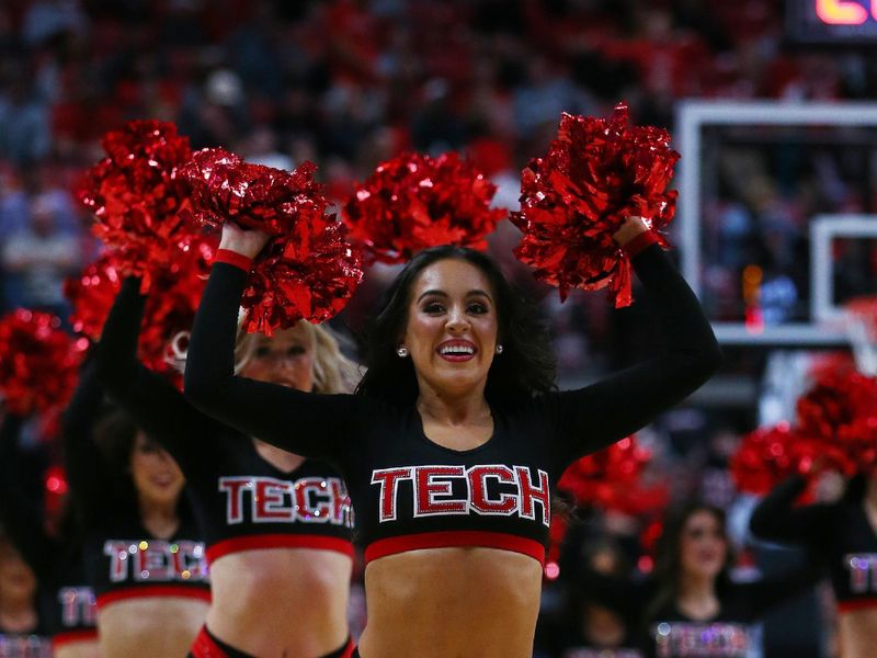
[[[76,387],[88,341],[47,313],[20,308],[0,318],[0,392],[14,413],[64,407]]]

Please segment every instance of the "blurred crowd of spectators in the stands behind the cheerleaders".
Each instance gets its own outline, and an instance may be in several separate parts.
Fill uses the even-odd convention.
[[[497,183],[497,205],[514,208],[520,170],[545,150],[562,111],[606,115],[624,99],[637,123],[672,128],[674,103],[685,98],[805,101],[877,92],[873,58],[789,47],[782,11],[782,0],[5,0],[0,308],[66,315],[62,282],[98,249],[70,189],[102,156],[102,135],[128,120],[172,121],[194,148],[223,146],[274,167],[312,160],[337,201],[401,150],[460,150]],[[828,189],[852,167],[836,152],[819,155],[783,186],[765,183],[776,178],[776,158],[756,156],[753,163],[745,151],[729,151],[706,217],[716,263],[726,266],[708,273],[716,291],[737,285],[753,259],[768,281],[778,276],[771,266],[787,265],[791,288],[781,281],[770,294],[781,313],[798,317],[806,295],[802,217],[825,207],[818,200],[807,205],[799,192],[815,179],[818,191]],[[870,207],[856,190],[841,190],[827,204]],[[754,247],[753,236],[761,236]],[[600,294],[559,304],[515,263],[514,243],[506,226],[492,250],[544,298],[561,385],[651,350],[652,332],[636,306],[613,314]],[[355,329],[387,277],[376,268],[340,321]],[[741,313],[720,300],[714,306],[718,316]],[[749,546],[751,501],[737,495],[727,460],[753,415],[726,413],[708,431],[715,419],[682,409],[643,438],[656,468],[670,474],[674,498],[697,495],[730,510],[729,533],[740,547]],[[611,532],[626,544],[617,555],[615,544],[586,549],[597,561],[611,553],[606,569],[650,568],[640,560],[639,521],[584,514],[577,527],[590,530],[573,536]],[[744,556],[741,564],[752,567],[755,554]],[[568,614],[568,595],[548,587],[546,611]]]

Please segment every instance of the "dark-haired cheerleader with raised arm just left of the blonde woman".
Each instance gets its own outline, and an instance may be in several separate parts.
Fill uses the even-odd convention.
[[[209,606],[204,544],[173,458],[118,410],[101,415],[93,363],[64,424],[71,503],[98,605],[102,658],[184,656]]]

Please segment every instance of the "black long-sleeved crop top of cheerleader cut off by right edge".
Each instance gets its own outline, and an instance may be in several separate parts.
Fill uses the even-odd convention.
[[[841,500],[795,507],[806,487],[798,475],[775,487],[755,508],[752,532],[818,551],[829,567],[840,612],[877,606],[877,532],[864,504]]]

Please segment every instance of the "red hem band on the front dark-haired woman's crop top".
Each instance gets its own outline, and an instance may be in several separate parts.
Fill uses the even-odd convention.
[[[423,532],[419,534],[400,535],[372,542],[365,549],[365,563],[373,559],[419,551],[422,548],[451,548],[455,546],[478,546],[481,548],[499,548],[522,553],[545,566],[545,546],[536,540],[520,537],[502,532],[483,532],[477,530],[454,530],[443,532]]]

